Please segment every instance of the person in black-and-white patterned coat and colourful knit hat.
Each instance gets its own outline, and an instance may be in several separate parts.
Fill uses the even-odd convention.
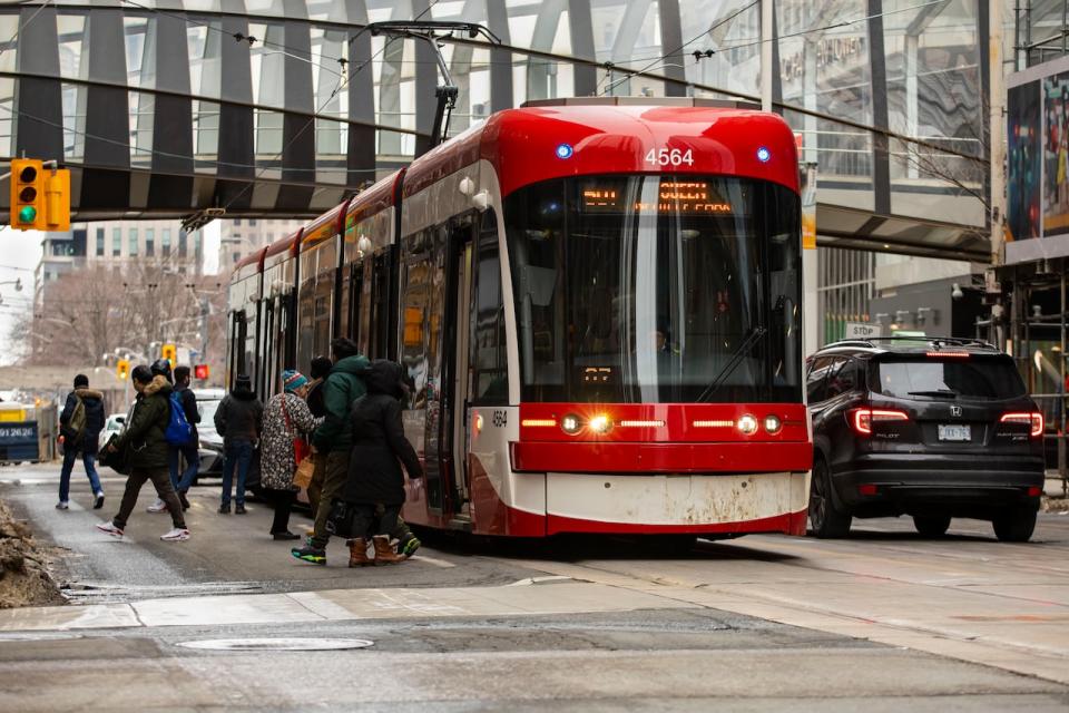
[[[300,372],[282,372],[283,392],[271,397],[264,407],[259,485],[275,507],[275,519],[271,524],[275,539],[301,539],[290,531],[290,511],[296,496],[293,475],[297,470],[298,443],[306,443],[305,436],[318,424],[304,401],[307,384],[308,380]]]

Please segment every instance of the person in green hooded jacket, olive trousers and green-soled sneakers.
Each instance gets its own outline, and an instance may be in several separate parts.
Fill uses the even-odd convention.
[[[330,504],[349,478],[349,451],[352,446],[349,407],[364,395],[364,382],[360,373],[371,365],[367,358],[360,354],[356,342],[351,339],[335,339],[331,342],[331,352],[334,365],[323,383],[323,406],[326,414],[323,423],[312,434],[312,447],[321,456],[325,455],[320,507],[315,510],[315,529],[307,545],[291,550],[297,559],[316,565],[326,564],[326,543],[331,537],[326,531]]]

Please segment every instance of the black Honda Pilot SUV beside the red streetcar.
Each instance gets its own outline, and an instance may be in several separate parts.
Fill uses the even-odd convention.
[[[806,391],[817,537],[900,515],[930,537],[952,517],[991,520],[1004,541],[1032,536],[1043,417],[1007,354],[974,340],[836,342],[806,360]]]

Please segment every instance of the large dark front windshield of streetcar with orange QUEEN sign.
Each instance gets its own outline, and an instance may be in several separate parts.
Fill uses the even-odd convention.
[[[710,176],[580,176],[504,201],[521,398],[801,401],[798,197]]]

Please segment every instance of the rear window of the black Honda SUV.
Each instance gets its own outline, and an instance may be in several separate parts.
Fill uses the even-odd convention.
[[[913,399],[1014,399],[1026,393],[1009,359],[902,359],[875,362],[873,390],[889,397]]]

